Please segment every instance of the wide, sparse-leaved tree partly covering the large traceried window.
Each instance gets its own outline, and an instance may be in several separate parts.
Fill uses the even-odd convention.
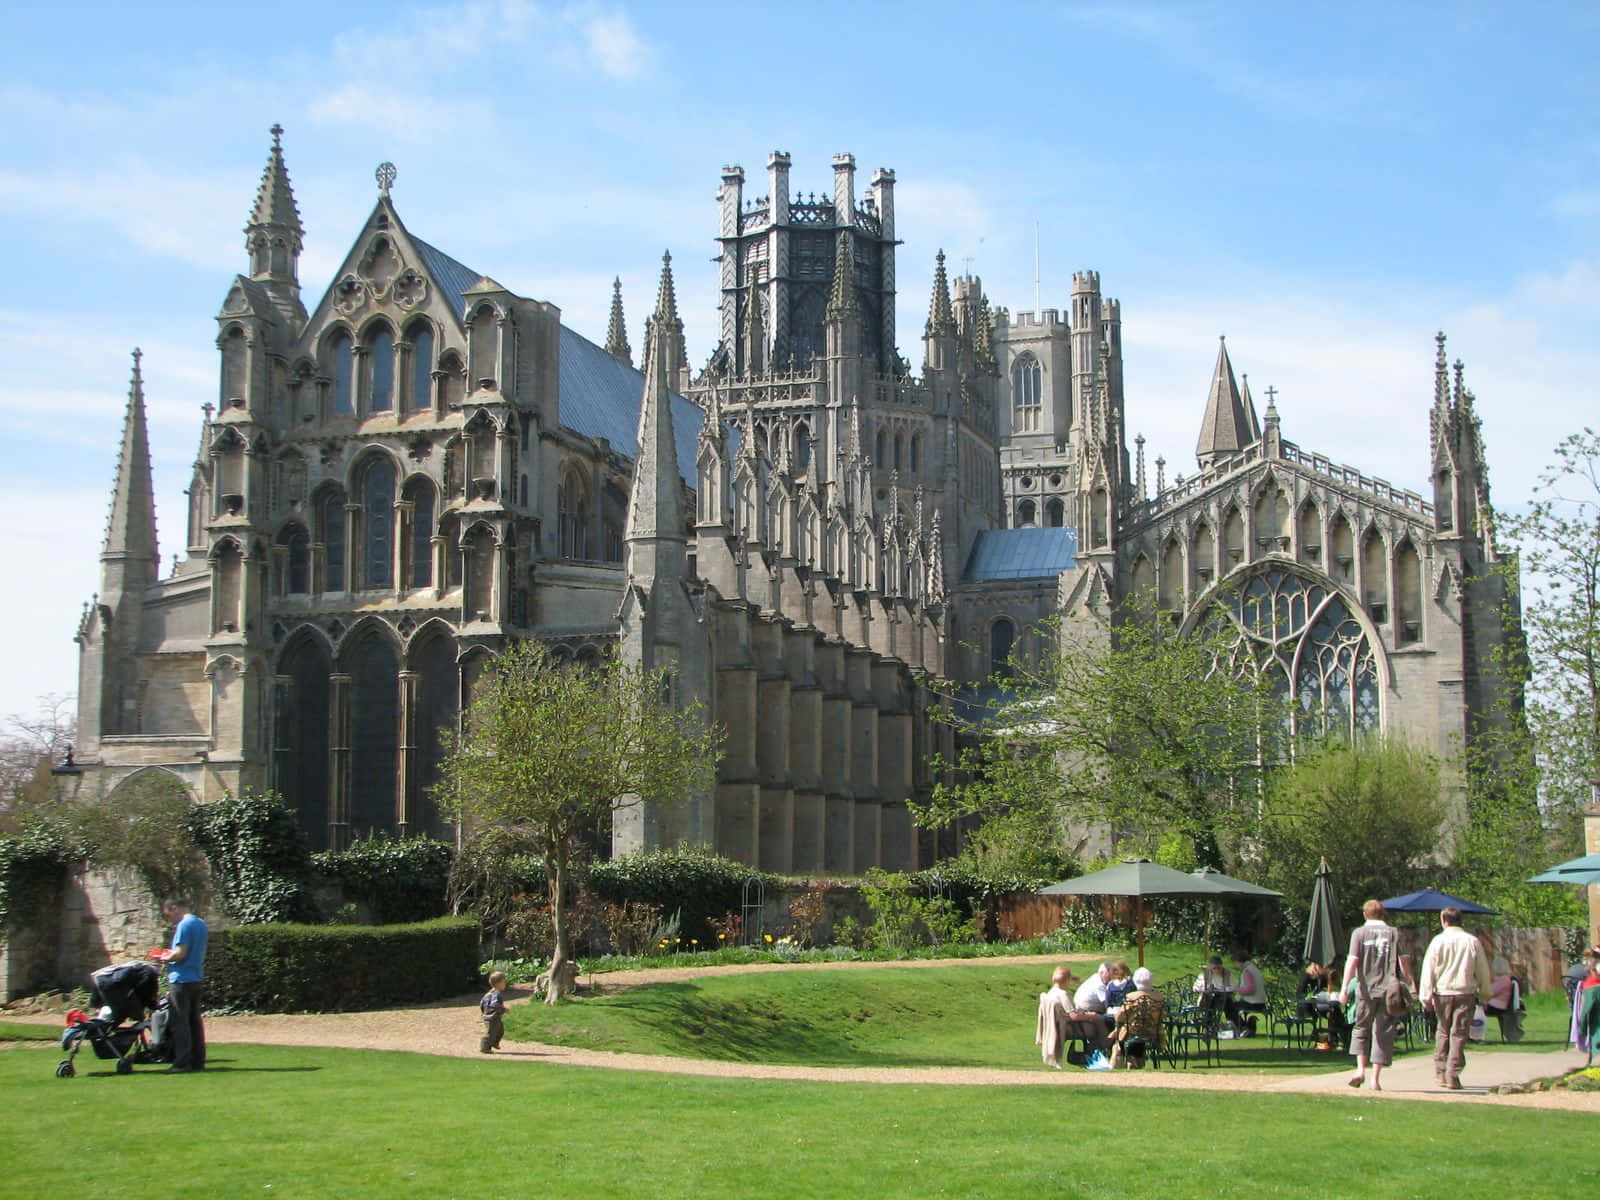
[[[1146,850],[1178,835],[1226,866],[1282,757],[1283,701],[1264,675],[1218,666],[1226,645],[1205,622],[1184,632],[1130,603],[1096,632],[1066,642],[1051,622],[1040,662],[1010,664],[1006,698],[965,723],[958,771],[918,822],[1003,818],[994,829],[1024,838],[1109,826]]]

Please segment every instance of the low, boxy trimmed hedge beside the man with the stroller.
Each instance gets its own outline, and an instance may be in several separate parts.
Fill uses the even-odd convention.
[[[206,949],[206,1006],[358,1013],[445,1000],[478,986],[480,936],[467,917],[216,930]]]

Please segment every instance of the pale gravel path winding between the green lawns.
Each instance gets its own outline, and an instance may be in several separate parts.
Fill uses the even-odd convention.
[[[1069,962],[1085,962],[1093,955],[1067,955]],[[707,974],[757,971],[851,971],[882,968],[982,966],[984,963],[1058,963],[1062,955],[1022,958],[930,958],[893,963],[757,963],[742,966],[664,968],[650,971],[614,971],[590,978],[602,990],[675,982]],[[510,1003],[530,1003],[526,992],[512,992]],[[18,1019],[18,1018],[11,1018]],[[27,1019],[27,1018],[21,1018]],[[598,1050],[574,1050],[534,1042],[507,1042],[493,1056],[477,1053],[477,997],[466,995],[414,1008],[387,1008],[376,1013],[278,1013],[262,1016],[210,1016],[206,1040],[213,1045],[338,1046],[349,1050],[392,1050],[446,1058],[475,1058],[486,1069],[512,1070],[517,1066],[560,1062],[576,1067],[611,1070],[650,1070],[670,1075],[702,1075],[717,1078],[813,1080],[824,1083],[942,1083],[965,1086],[1115,1086],[1178,1088],[1189,1091],[1294,1091],[1342,1094],[1362,1099],[1426,1099],[1450,1104],[1502,1104],[1522,1109],[1568,1109],[1600,1114],[1600,1093],[1546,1091],[1531,1094],[1496,1094],[1498,1083],[1526,1082],[1558,1075],[1582,1066],[1582,1056],[1566,1053],[1496,1051],[1469,1056],[1464,1091],[1446,1093],[1434,1086],[1434,1064],[1427,1054],[1400,1059],[1384,1074],[1384,1090],[1352,1091],[1344,1072],[1314,1075],[1243,1075],[1210,1070],[997,1070],[981,1067],[795,1067],[770,1062],[718,1062],[710,1059],[670,1058],[664,1054],[616,1054]],[[490,1062],[501,1064],[488,1067]]]

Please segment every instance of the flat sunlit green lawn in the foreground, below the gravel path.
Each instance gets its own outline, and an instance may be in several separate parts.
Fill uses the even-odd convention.
[[[1600,1184],[1594,1117],[1363,1096],[866,1086],[214,1046],[203,1075],[0,1053],[0,1195],[1440,1197]],[[1448,1147],[1448,1152],[1442,1152]],[[1352,1163],[1357,1166],[1352,1170]],[[134,1181],[139,1181],[134,1184]]]

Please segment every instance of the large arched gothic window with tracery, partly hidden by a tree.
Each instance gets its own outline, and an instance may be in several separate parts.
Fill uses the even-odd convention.
[[[1378,658],[1339,592],[1274,566],[1218,597],[1210,621],[1235,672],[1264,674],[1290,696],[1294,733],[1350,738],[1378,730]]]

